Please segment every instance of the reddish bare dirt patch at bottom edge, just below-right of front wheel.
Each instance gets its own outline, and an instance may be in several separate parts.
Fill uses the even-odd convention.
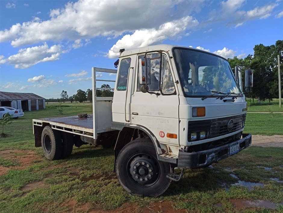
[[[142,212],[153,213],[153,212],[167,212],[167,213],[185,213],[187,212],[185,209],[174,209],[173,203],[170,201],[166,202],[156,202],[148,205],[148,207],[144,208]]]

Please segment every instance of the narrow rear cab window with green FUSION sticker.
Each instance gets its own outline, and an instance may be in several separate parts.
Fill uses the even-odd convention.
[[[131,65],[131,59],[123,59],[120,65],[120,71],[117,81],[117,90],[124,91],[127,89],[128,72]]]

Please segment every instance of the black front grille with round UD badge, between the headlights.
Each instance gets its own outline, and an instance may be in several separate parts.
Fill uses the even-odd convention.
[[[228,130],[228,122],[233,120],[233,127]],[[236,132],[244,126],[246,120],[246,114],[239,116],[231,116],[226,118],[217,118],[211,120],[201,120],[201,121],[189,121],[188,122],[188,141],[191,141],[191,133],[197,132],[197,139],[200,140],[199,132],[206,131],[209,135],[208,138],[215,138],[221,135],[226,135],[231,132]],[[242,127],[241,127],[242,126]],[[207,138],[205,138],[207,139]]]

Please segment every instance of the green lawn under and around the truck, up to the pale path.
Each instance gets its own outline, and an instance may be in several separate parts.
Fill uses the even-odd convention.
[[[63,107],[63,116],[92,113],[91,103],[64,105],[69,107]],[[249,147],[218,164],[213,164],[213,168],[186,170],[183,179],[172,182],[161,197],[141,198],[129,195],[112,173],[113,148],[102,149],[83,145],[80,148],[74,147],[73,153],[67,159],[46,160],[42,149],[34,147],[32,119],[62,116],[56,108],[56,103],[49,103],[46,106],[46,110],[25,112],[24,117],[13,120],[5,131],[12,137],[0,138],[0,151],[33,150],[42,158],[42,161],[35,161],[31,166],[15,169],[20,165],[17,158],[7,160],[5,156],[1,156],[0,165],[9,167],[10,170],[0,175],[0,212],[79,212],[83,204],[88,204],[88,209],[99,210],[117,209],[127,204],[136,207],[133,208],[133,212],[141,212],[149,205],[164,201],[172,202],[175,209],[186,209],[188,212],[283,210],[283,206],[279,204],[283,201],[283,184],[270,180],[283,180],[283,148]],[[250,113],[247,114],[245,132],[282,134],[280,121],[282,115],[279,114]],[[265,170],[263,167],[272,169]],[[230,171],[226,171],[226,168],[230,168]],[[251,190],[243,186],[232,186],[231,184],[238,180],[230,176],[230,173],[237,175],[241,180],[258,182],[265,186],[254,187]],[[46,187],[22,190],[23,186],[37,182],[45,183]],[[277,204],[278,209],[235,209],[231,199],[269,200]],[[74,207],[71,202],[74,203]],[[222,207],[215,205],[219,202]]]

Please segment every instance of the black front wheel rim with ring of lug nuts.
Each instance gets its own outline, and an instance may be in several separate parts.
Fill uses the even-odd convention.
[[[127,173],[135,185],[149,187],[159,179],[160,167],[154,157],[141,153],[129,160]]]

